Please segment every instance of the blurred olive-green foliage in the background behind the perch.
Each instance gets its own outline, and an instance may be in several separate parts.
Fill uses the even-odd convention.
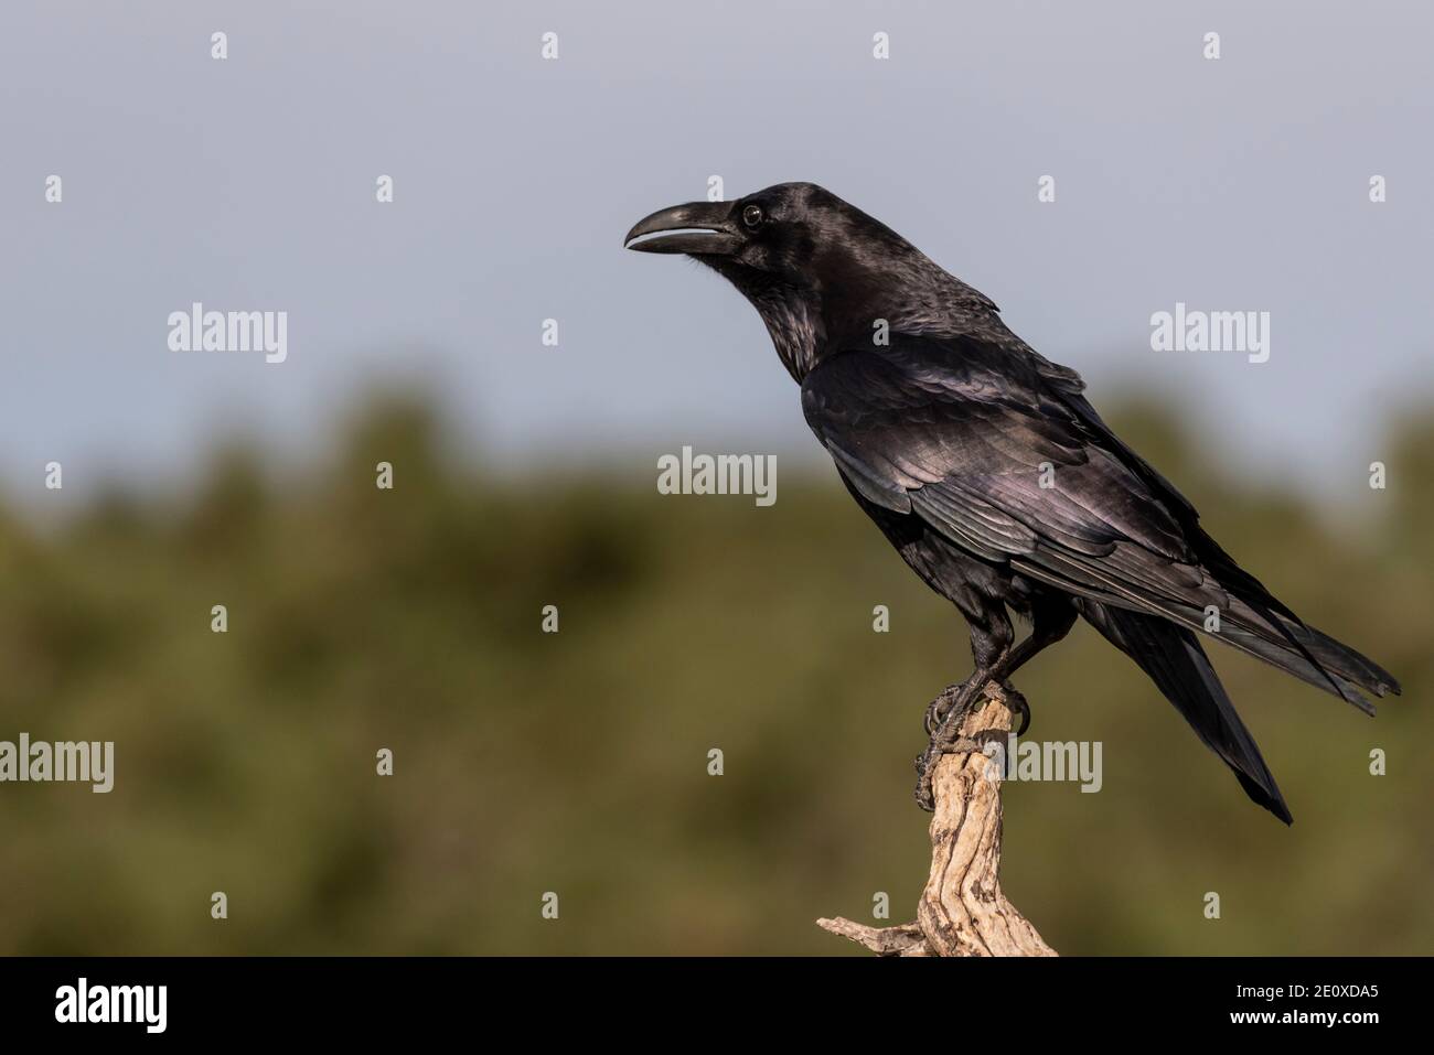
[[[1031,737],[1104,743],[1104,788],[1008,786],[1011,899],[1065,953],[1434,952],[1434,431],[1395,430],[1385,492],[1354,466],[1341,525],[1203,463],[1162,409],[1113,417],[1405,695],[1371,721],[1210,645],[1286,830],[1077,629],[1017,681]],[[445,450],[393,398],[304,473],[235,446],[184,500],[0,510],[0,740],[116,744],[108,796],[0,786],[0,952],[865,955],[813,920],[876,892],[911,917],[911,760],[969,652],[835,473],[759,509],[660,496],[645,456],[515,477]]]

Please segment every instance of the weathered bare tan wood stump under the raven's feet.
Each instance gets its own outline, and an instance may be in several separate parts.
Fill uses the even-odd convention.
[[[967,715],[961,738],[1005,744],[1011,711],[1004,689],[987,685],[987,705]],[[932,778],[931,876],[916,904],[916,922],[869,927],[849,919],[819,919],[882,956],[1054,956],[1025,917],[1001,893],[1001,765],[977,751],[948,754]]]

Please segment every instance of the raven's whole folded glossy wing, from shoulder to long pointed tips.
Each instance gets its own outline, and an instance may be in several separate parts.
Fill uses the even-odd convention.
[[[901,334],[825,358],[802,406],[878,506],[1077,596],[1195,631],[1213,629],[1213,608],[1223,641],[1372,712],[1355,685],[1382,695],[1381,679],[1362,658],[1316,658],[1315,632],[1282,619],[1189,502],[1096,417],[1078,378],[1051,368],[1004,343]]]

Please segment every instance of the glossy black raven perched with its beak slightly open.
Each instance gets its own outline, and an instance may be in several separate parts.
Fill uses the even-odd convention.
[[[624,244],[687,254],[751,301],[847,490],[971,625],[972,675],[926,712],[923,807],[931,767],[985,685],[1005,684],[1077,616],[1134,659],[1246,794],[1286,824],[1289,808],[1196,632],[1367,714],[1361,689],[1400,691],[1242,571],[1190,502],[1100,419],[1080,374],[1037,354],[989,298],[832,192],[779,183],[736,202],[678,205],[640,221]],[[1020,644],[1012,612],[1031,622]]]

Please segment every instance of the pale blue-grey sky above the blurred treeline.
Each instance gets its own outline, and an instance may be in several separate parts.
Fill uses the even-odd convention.
[[[711,176],[822,183],[1097,407],[1160,393],[1238,472],[1348,493],[1434,390],[1431,11],[6,0],[0,500],[52,500],[50,460],[66,500],[184,480],[234,434],[301,463],[400,387],[516,467],[816,463],[756,312],[621,247]],[[287,312],[287,358],[171,350],[195,301]],[[1177,302],[1269,312],[1269,360],[1152,350]]]

